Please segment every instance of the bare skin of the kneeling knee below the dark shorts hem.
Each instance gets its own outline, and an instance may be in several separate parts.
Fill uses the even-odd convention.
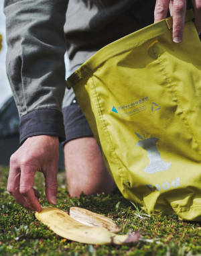
[[[98,144],[93,137],[76,138],[64,146],[66,179],[70,196],[105,192],[115,188]]]

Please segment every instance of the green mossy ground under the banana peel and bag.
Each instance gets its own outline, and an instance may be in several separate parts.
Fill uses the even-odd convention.
[[[69,211],[79,206],[112,218],[123,234],[139,230],[141,241],[133,245],[84,245],[68,241],[41,224],[34,212],[15,203],[6,191],[8,169],[0,167],[0,255],[201,255],[201,222],[184,222],[176,215],[153,217],[132,205],[116,189],[106,196],[70,198],[64,172],[58,173],[57,207]],[[37,173],[40,204],[48,206],[44,178]]]

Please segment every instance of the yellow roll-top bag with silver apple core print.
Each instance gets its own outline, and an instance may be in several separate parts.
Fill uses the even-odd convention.
[[[67,81],[125,198],[201,220],[201,43],[188,11],[100,49]]]

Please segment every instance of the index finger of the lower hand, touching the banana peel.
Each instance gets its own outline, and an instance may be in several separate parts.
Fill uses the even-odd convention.
[[[42,210],[38,199],[34,193],[34,175],[36,173],[36,167],[32,165],[21,165],[21,177],[20,177],[20,185],[19,192],[22,194],[27,203],[31,206],[33,210],[40,212]]]

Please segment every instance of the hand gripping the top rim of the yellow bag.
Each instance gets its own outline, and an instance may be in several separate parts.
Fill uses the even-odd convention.
[[[198,34],[201,33],[201,0],[192,0],[195,12],[195,25]],[[186,0],[156,0],[154,22],[159,22],[167,17],[168,8],[173,16],[173,41],[182,42],[184,22],[186,15]]]

